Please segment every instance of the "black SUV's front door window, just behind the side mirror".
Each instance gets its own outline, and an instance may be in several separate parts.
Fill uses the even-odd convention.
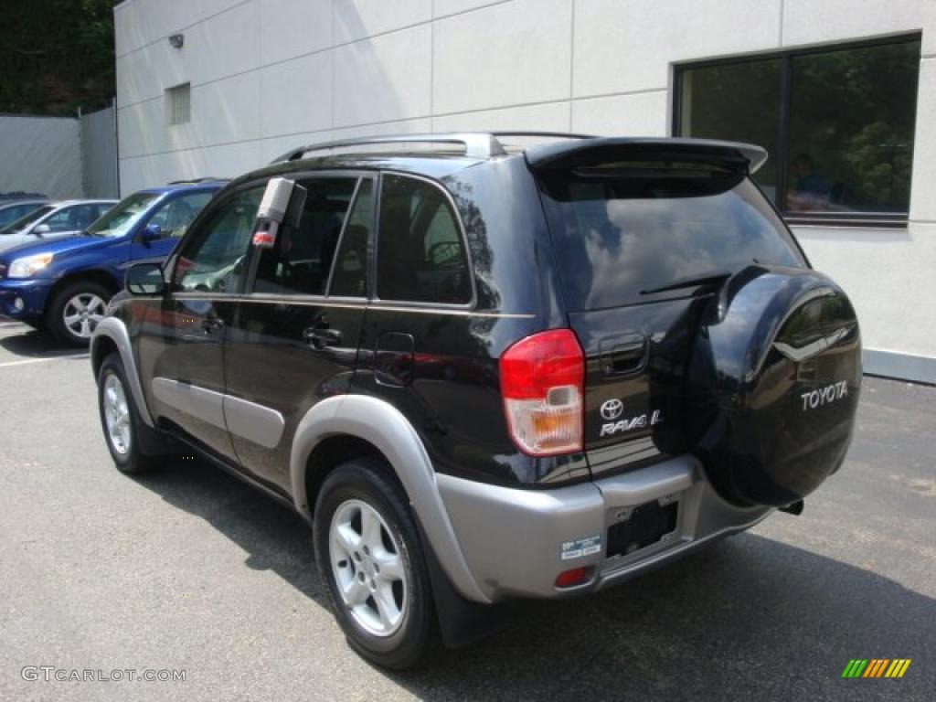
[[[237,292],[246,274],[247,248],[254,231],[262,188],[227,199],[185,242],[176,261],[173,286],[196,292]]]

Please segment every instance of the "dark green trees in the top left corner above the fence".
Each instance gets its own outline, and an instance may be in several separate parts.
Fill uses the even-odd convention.
[[[0,112],[73,115],[114,95],[114,0],[5,3]]]

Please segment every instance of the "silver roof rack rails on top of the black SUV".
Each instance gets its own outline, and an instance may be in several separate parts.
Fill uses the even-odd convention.
[[[506,155],[500,137],[541,137],[547,139],[591,139],[583,134],[565,134],[563,132],[449,132],[439,134],[398,134],[380,137],[360,137],[356,139],[340,139],[337,141],[323,141],[317,144],[300,146],[285,154],[274,158],[271,163],[296,161],[305,154],[319,151],[336,151],[338,149],[355,149],[360,146],[417,146],[418,144],[440,145],[443,148],[437,153],[450,153],[455,151],[470,158],[491,158]],[[454,147],[449,149],[447,147]],[[415,151],[415,150],[414,150]],[[360,153],[366,153],[361,150]]]

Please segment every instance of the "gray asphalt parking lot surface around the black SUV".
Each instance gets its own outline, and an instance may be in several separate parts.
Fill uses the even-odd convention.
[[[0,324],[0,699],[918,699],[936,694],[936,388],[868,378],[798,518],[388,674],[344,643],[302,521],[197,461],[120,475],[85,355]],[[842,680],[910,658],[902,680]],[[184,681],[23,680],[24,666]],[[41,675],[41,674],[40,674]]]

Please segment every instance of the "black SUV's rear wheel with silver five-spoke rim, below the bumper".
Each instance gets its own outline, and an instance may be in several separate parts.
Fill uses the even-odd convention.
[[[348,461],[326,478],[314,513],[315,560],[348,643],[376,665],[423,663],[436,636],[426,558],[388,466]]]

